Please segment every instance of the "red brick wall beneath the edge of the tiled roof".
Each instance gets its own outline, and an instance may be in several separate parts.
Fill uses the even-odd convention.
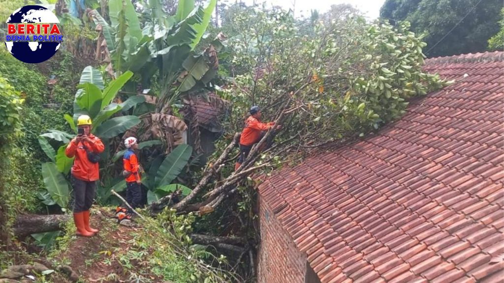
[[[287,231],[259,196],[261,244],[258,253],[259,283],[303,283],[306,255],[299,252]]]

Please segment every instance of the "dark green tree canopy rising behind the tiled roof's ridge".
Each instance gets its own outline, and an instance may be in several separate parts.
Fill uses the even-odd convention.
[[[380,16],[424,33],[427,57],[482,52],[499,31],[500,0],[387,0]],[[502,39],[500,39],[502,40]]]

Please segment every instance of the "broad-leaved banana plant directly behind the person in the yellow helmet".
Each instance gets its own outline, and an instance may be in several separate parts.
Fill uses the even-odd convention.
[[[75,95],[74,116],[65,114],[65,119],[74,132],[50,130],[39,136],[40,147],[51,161],[42,164],[42,176],[47,193],[42,193],[39,197],[44,198],[46,204],[55,202],[62,208],[68,204],[69,184],[65,176],[70,173],[73,158],[65,155],[65,149],[77,133],[76,120],[79,115],[86,114],[91,117],[92,132],[103,139],[104,144],[107,144],[107,139],[140,123],[140,119],[133,115],[112,117],[121,110],[128,110],[145,101],[142,96],[133,96],[122,103],[112,102],[132,76],[132,72],[125,72],[105,87],[101,73],[97,69],[91,66],[84,68]],[[56,146],[57,151],[53,146]],[[47,199],[47,196],[51,199]]]

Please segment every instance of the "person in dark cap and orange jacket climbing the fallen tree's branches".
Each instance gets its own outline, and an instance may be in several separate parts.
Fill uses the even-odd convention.
[[[250,107],[249,113],[250,116],[245,120],[245,128],[241,132],[240,156],[234,164],[234,171],[241,166],[241,163],[245,161],[252,147],[259,143],[266,131],[275,125],[275,122],[261,123],[261,109],[257,105]],[[277,128],[280,128],[280,125]]]

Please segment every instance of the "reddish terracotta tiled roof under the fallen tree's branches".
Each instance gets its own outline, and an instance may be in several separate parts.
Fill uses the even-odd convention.
[[[458,82],[259,186],[323,283],[504,279],[503,54],[426,60]]]

